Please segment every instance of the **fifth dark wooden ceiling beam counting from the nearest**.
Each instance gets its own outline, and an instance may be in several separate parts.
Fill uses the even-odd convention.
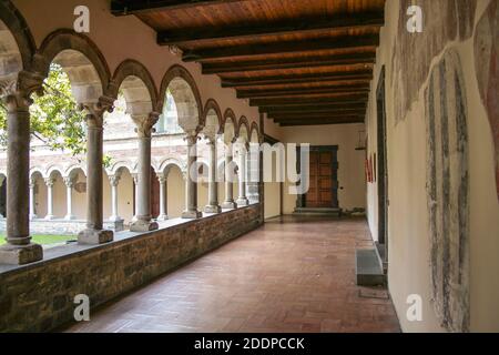
[[[344,81],[344,80],[373,80],[373,70],[361,70],[355,72],[318,73],[301,75],[274,75],[258,78],[231,78],[222,79],[222,88],[243,88],[253,85],[272,84],[296,84],[322,81]]]

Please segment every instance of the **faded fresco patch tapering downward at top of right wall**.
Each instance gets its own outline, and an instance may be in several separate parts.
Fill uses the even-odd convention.
[[[420,0],[422,32],[406,29],[407,9],[413,0],[400,0],[398,36],[393,43],[391,87],[397,92],[396,122],[404,120],[418,91],[428,78],[431,60],[449,41],[464,41],[472,34],[476,0]]]

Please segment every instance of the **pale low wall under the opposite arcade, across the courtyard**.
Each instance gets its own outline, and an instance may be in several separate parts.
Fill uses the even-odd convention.
[[[0,220],[0,232],[6,231],[7,220]],[[83,220],[32,220],[30,221],[31,234],[53,234],[53,235],[78,235],[86,227]],[[114,232],[124,230],[124,221],[104,221],[104,229]]]

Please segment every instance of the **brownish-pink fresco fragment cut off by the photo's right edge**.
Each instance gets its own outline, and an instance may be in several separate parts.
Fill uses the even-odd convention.
[[[499,4],[491,1],[475,33],[475,67],[480,98],[487,110],[496,146],[496,185],[499,199]]]

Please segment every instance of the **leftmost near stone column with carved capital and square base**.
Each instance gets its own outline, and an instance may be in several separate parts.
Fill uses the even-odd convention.
[[[0,246],[0,264],[28,264],[43,258],[43,250],[30,236],[30,94],[43,78],[28,72],[0,82],[7,106],[7,244]],[[18,81],[19,80],[19,81]]]

